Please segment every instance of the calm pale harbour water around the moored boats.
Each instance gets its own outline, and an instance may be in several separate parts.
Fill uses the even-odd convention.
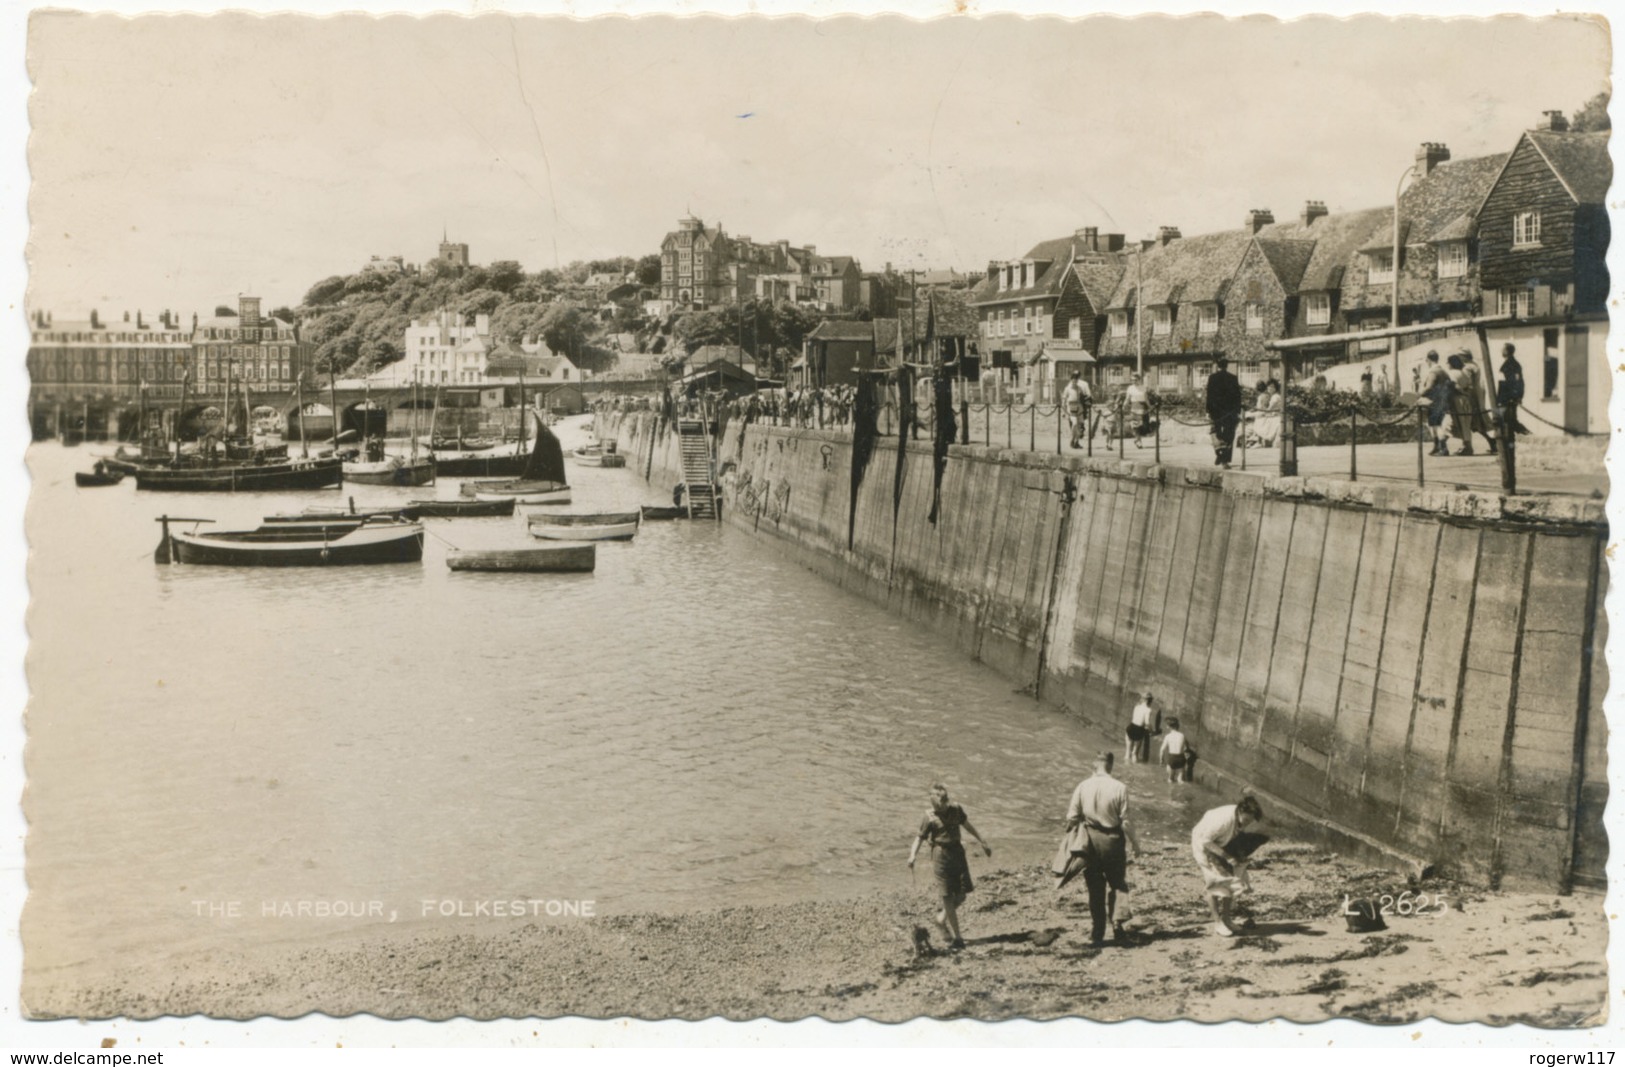
[[[447,570],[447,541],[525,542],[518,516],[429,520],[421,567],[158,567],[162,512],[252,526],[455,484],[76,489],[102,450],[29,451],[34,973],[380,921],[265,916],[266,901],[379,901],[455,927],[421,901],[606,914],[908,885],[934,780],[996,862],[1046,862],[1098,745],[715,523],[647,525],[600,546],[593,575]],[[665,495],[627,469],[570,479],[577,508]],[[1191,825],[1149,768],[1128,780],[1142,825]]]

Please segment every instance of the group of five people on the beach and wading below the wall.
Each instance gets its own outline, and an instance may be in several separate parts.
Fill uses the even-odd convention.
[[[1168,719],[1168,731],[1159,749],[1159,760],[1167,768],[1170,783],[1188,783],[1196,752],[1180,729],[1176,718]],[[1146,692],[1129,716],[1126,736],[1128,763],[1144,763],[1149,758],[1149,739],[1162,731],[1154,700]],[[1066,807],[1066,830],[1056,848],[1050,870],[1055,875],[1056,901],[1066,887],[1082,877],[1089,895],[1090,944],[1102,945],[1107,931],[1113,942],[1133,944],[1138,935],[1126,927],[1133,918],[1129,908],[1128,862],[1129,854],[1139,857],[1141,846],[1129,823],[1128,784],[1113,776],[1116,755],[1102,750],[1095,755],[1094,773],[1072,791]],[[1235,898],[1251,892],[1248,864],[1253,853],[1269,838],[1253,830],[1263,822],[1264,812],[1250,791],[1235,804],[1207,810],[1191,827],[1191,857],[1201,879],[1202,900],[1212,916],[1216,937],[1235,937],[1253,924],[1235,909]],[[934,898],[939,903],[933,922],[949,948],[964,947],[959,927],[959,908],[975,888],[970,864],[965,856],[962,833],[982,846],[985,856],[993,848],[970,825],[970,817],[956,804],[947,786],[931,786],[931,807],[920,822],[913,846],[908,849],[908,866],[915,866],[921,848],[931,849]]]

